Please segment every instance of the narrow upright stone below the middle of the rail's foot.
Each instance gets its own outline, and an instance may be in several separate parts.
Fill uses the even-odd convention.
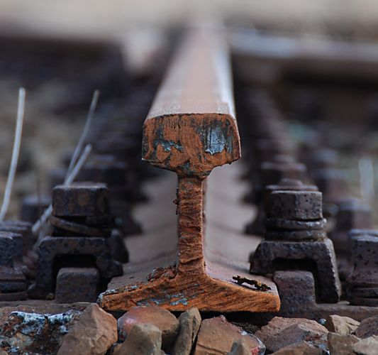
[[[201,325],[201,315],[197,308],[187,310],[179,316],[179,335],[174,342],[173,355],[189,355],[191,346],[196,340],[199,326]]]

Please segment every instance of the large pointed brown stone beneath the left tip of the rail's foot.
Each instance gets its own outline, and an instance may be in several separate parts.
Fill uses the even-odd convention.
[[[117,321],[96,305],[89,305],[62,339],[58,355],[104,355],[117,341]]]

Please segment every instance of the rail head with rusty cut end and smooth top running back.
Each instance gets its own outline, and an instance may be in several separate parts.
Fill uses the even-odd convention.
[[[230,60],[223,37],[190,31],[143,126],[143,160],[206,178],[240,158]]]

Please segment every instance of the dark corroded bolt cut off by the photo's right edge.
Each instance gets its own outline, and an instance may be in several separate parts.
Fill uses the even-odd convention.
[[[350,231],[352,273],[347,278],[347,300],[352,305],[378,307],[378,231]]]

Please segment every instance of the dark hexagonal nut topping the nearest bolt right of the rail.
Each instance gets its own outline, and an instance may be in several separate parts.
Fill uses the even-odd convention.
[[[309,221],[323,218],[321,192],[282,191],[270,195],[270,218]]]

